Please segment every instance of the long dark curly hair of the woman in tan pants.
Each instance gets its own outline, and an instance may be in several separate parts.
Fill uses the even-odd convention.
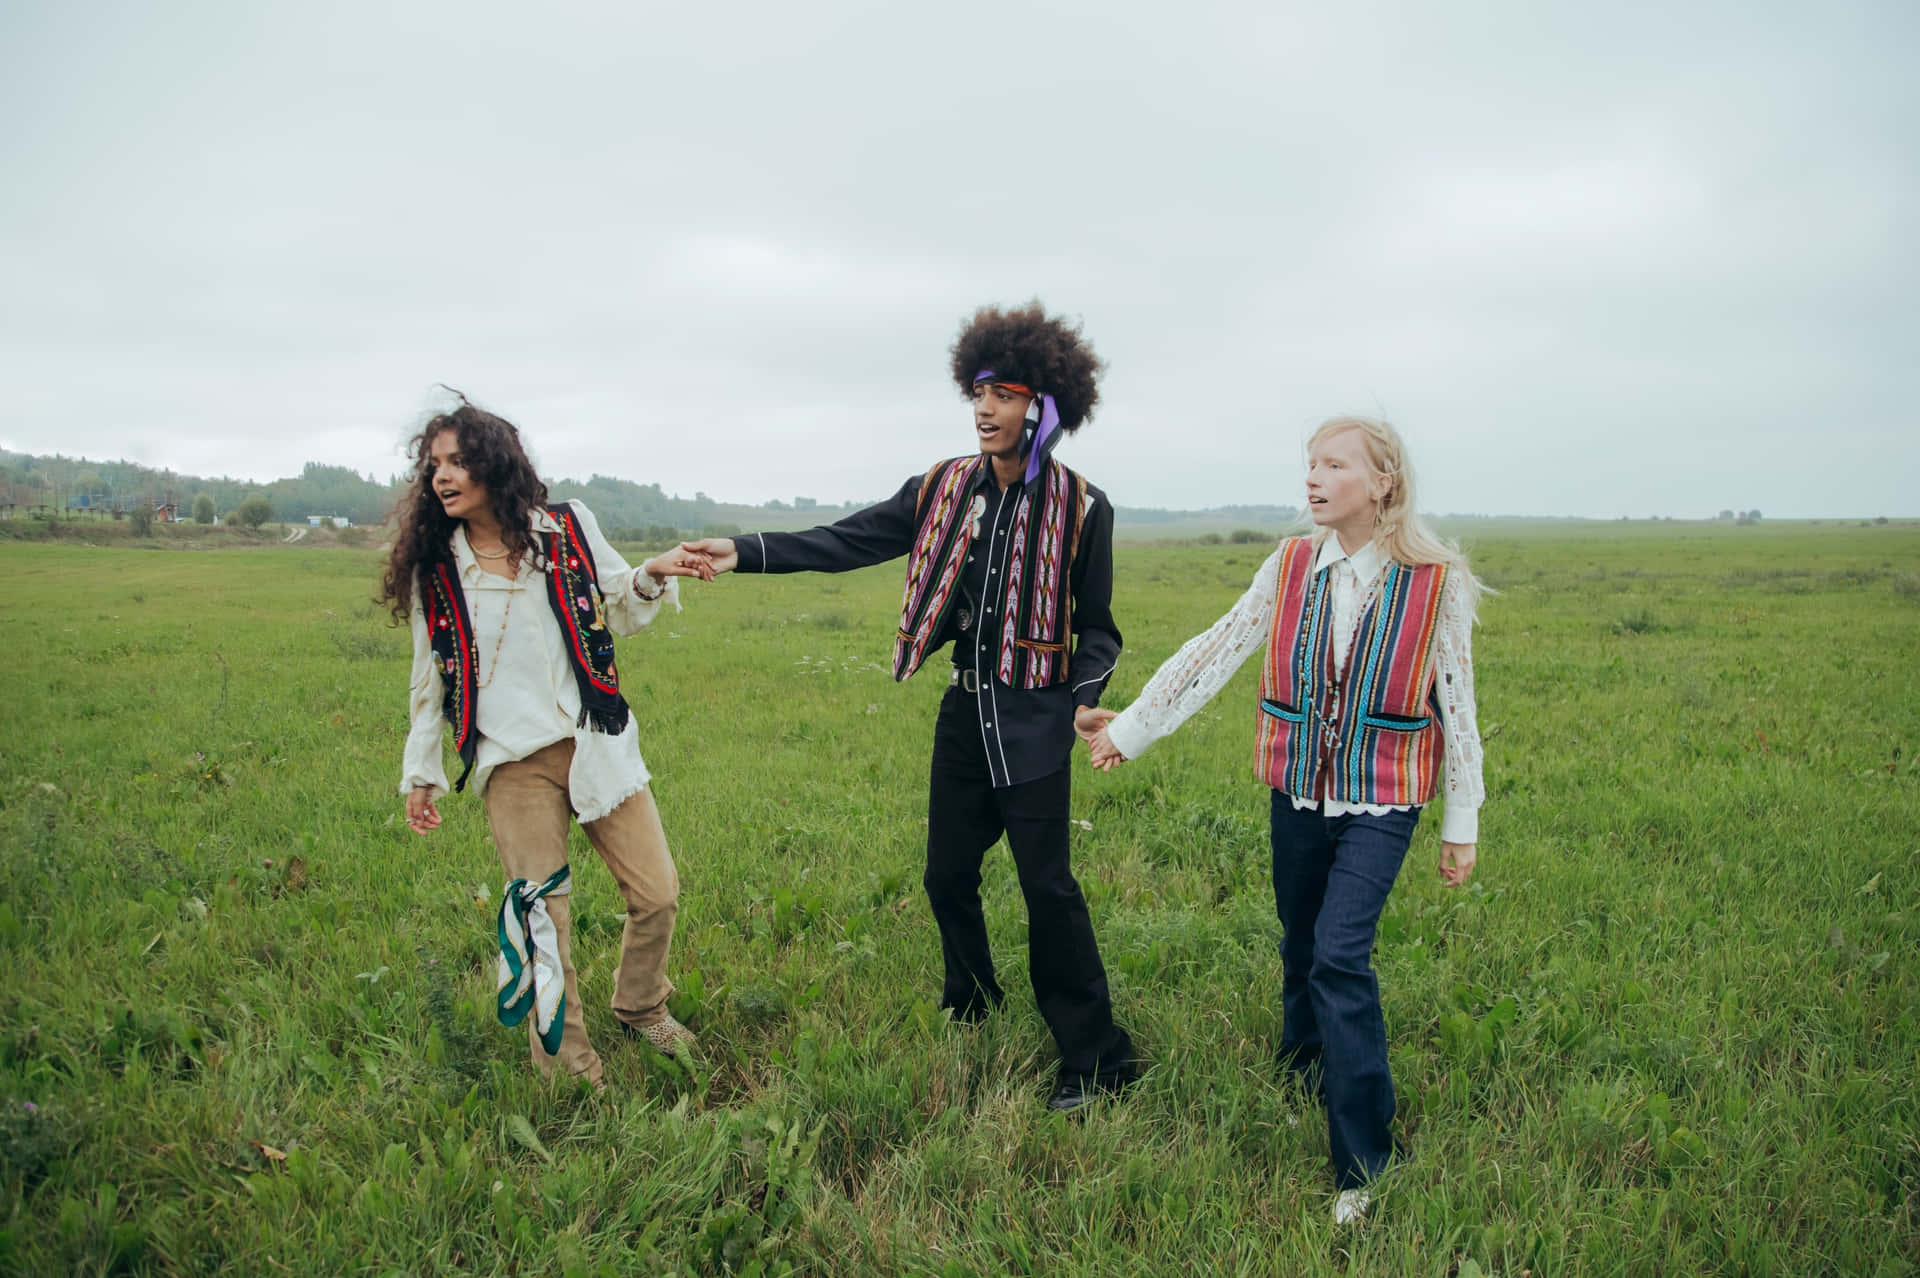
[[[449,388],[451,390],[451,388]],[[461,520],[449,516],[440,497],[434,495],[434,439],[445,432],[459,432],[461,462],[476,482],[486,485],[488,505],[499,520],[499,535],[513,562],[536,555],[532,535],[532,514],[547,505],[547,485],[526,457],[520,445],[520,432],[513,422],[474,407],[467,395],[459,395],[461,407],[451,413],[432,416],[413,439],[407,441],[407,459],[413,462],[407,491],[396,503],[394,516],[399,532],[394,533],[394,549],[386,560],[386,574],[380,580],[380,593],[374,603],[392,608],[394,620],[407,620],[413,608],[413,587],[419,572],[434,564],[453,562],[453,530]]]

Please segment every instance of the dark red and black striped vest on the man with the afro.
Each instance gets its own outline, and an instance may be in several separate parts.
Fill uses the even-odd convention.
[[[893,677],[906,679],[947,624],[960,568],[973,545],[968,501],[985,459],[954,457],[927,470],[920,485],[914,549],[906,558],[900,627],[893,637]],[[1006,583],[995,674],[1008,687],[1046,687],[1068,679],[1073,633],[1073,556],[1087,518],[1087,480],[1056,461],[1016,497],[1008,533]]]

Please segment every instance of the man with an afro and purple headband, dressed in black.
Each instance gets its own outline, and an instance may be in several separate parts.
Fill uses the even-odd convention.
[[[1073,737],[1091,741],[1100,727],[1094,708],[1119,656],[1119,627],[1110,608],[1114,507],[1052,453],[1092,416],[1100,368],[1079,328],[1039,301],[983,307],[952,345],[977,451],[935,462],[837,524],[685,547],[710,556],[714,572],[849,572],[908,556],[893,677],[952,645],[927,785],[941,1004],[977,1023],[1004,998],[979,867],[1006,835],[1027,898],[1033,994],[1060,1046],[1048,1100],[1058,1111],[1117,1092],[1137,1069],[1068,856]]]

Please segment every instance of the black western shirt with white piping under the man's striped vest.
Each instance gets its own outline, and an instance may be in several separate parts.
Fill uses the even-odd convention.
[[[887,501],[856,510],[837,524],[799,533],[745,533],[733,539],[739,572],[847,572],[906,555],[918,532],[920,485],[914,476]],[[1035,480],[1039,497],[1039,480]],[[995,677],[1000,608],[1006,595],[1008,551],[1020,484],[1000,487],[993,464],[979,468],[968,489],[968,518],[979,510],[979,533],[968,547],[956,597],[947,610],[933,649],[952,645],[956,677],[972,672],[962,687],[979,716],[981,745],[993,785],[1021,785],[1068,766],[1073,752],[1073,710],[1098,706],[1108,675],[1119,660],[1119,626],[1114,624],[1114,507],[1106,493],[1087,485],[1091,499],[1073,556],[1073,635],[1066,683],[1008,687]]]

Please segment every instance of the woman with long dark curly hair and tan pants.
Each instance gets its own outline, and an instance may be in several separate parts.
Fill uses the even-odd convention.
[[[520,432],[461,397],[409,445],[413,482],[380,583],[413,626],[413,685],[399,793],[407,825],[440,827],[440,743],[486,798],[507,871],[499,1017],[528,1021],[534,1063],[601,1086],[576,988],[566,823],[578,819],[626,900],[612,1009],[668,1055],[693,1034],[666,1009],[680,877],[614,668],[630,635],[680,606],[676,576],[710,576],[687,551],[628,568],[580,503],[547,503]]]

